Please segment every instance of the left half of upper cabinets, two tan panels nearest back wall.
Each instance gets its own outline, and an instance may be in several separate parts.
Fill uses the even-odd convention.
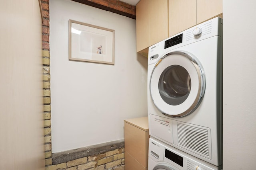
[[[137,52],[168,37],[168,0],[140,0],[136,5]]]

